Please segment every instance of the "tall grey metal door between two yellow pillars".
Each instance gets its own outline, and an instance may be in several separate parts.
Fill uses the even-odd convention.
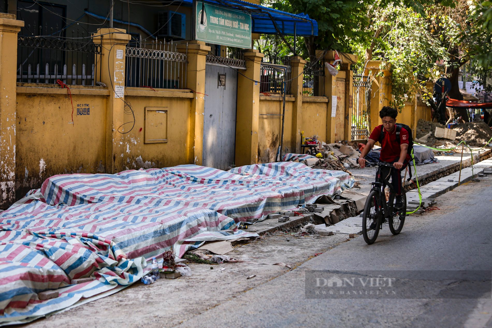
[[[225,75],[225,86],[219,86]],[[238,73],[224,66],[206,65],[203,126],[203,165],[227,170],[234,164]]]

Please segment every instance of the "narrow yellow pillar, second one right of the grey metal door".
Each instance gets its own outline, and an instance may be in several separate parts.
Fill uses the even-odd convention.
[[[295,153],[301,153],[301,124],[303,119],[303,77],[306,60],[299,56],[290,59],[292,66],[292,81],[290,82],[290,93],[296,99],[292,105],[292,135],[291,148]]]

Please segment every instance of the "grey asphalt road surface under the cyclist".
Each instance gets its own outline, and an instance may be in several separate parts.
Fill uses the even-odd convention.
[[[440,210],[408,218],[400,235],[385,227],[372,245],[351,239],[180,327],[492,327],[491,185],[466,183],[437,199]],[[324,271],[307,298],[312,270]],[[345,287],[323,286],[334,276]],[[392,285],[368,285],[375,276]]]

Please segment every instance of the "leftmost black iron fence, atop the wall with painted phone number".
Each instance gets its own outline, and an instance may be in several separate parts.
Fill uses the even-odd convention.
[[[17,82],[55,84],[62,80],[65,84],[95,85],[101,77],[95,64],[100,60],[101,45],[94,44],[85,32],[69,34],[71,37],[19,35]]]

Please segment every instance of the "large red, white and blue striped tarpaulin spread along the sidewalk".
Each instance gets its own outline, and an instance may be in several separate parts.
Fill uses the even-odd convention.
[[[257,236],[224,230],[338,194],[353,182],[344,172],[293,162],[228,172],[180,165],[53,176],[0,213],[0,325],[131,284],[146,259],[171,246],[182,256],[206,240]],[[95,280],[70,284],[88,276]],[[39,300],[46,290],[60,297]]]

